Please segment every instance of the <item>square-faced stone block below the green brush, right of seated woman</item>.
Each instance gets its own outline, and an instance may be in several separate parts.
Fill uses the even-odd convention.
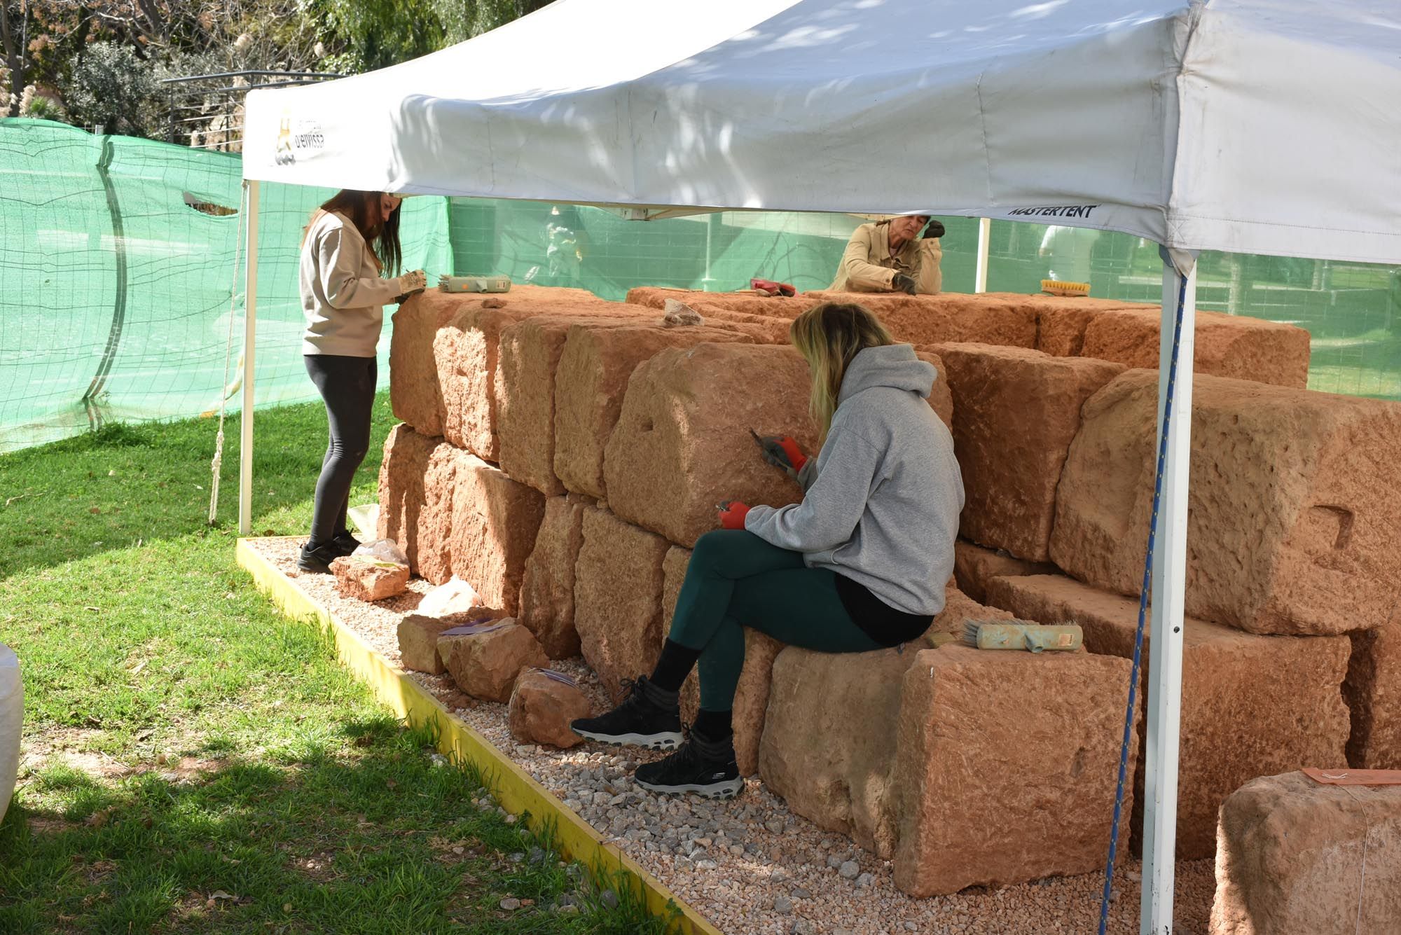
[[[1104,865],[1129,662],[922,649],[897,731],[895,886],[911,896]]]

